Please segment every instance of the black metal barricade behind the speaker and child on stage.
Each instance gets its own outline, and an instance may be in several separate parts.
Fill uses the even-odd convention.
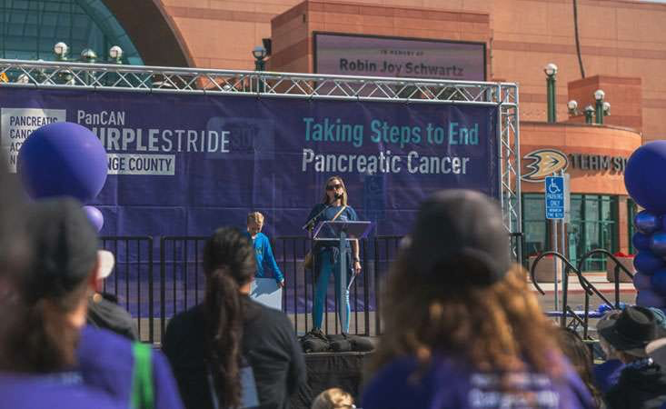
[[[402,238],[378,235],[359,241],[363,271],[350,288],[350,334],[382,334],[381,283],[397,256]],[[202,250],[206,239],[207,236],[160,237],[159,258],[154,260],[154,240],[150,236],[102,237],[104,248],[116,255],[115,273],[104,283],[104,291],[114,294],[119,304],[135,317],[142,341],[160,343],[174,314],[204,300]],[[305,236],[278,236],[273,242],[273,254],[286,280],[283,312],[292,320],[296,334],[310,331],[313,325],[316,274],[303,268],[303,257],[310,248],[311,240]],[[159,269],[154,272],[155,262]],[[155,292],[159,292],[156,300]],[[336,318],[338,300],[333,294],[334,285],[330,283],[323,319],[326,334],[341,332]]]

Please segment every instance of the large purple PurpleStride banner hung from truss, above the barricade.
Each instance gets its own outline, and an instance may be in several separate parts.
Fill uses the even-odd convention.
[[[375,234],[406,233],[438,189],[498,196],[492,107],[12,88],[0,107],[10,151],[40,112],[98,135],[104,235],[205,235],[253,210],[268,234],[301,234],[331,175]]]

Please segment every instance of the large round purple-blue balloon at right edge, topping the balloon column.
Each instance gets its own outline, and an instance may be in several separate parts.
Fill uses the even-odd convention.
[[[631,198],[644,209],[666,212],[666,141],[642,145],[631,154],[624,170],[624,186]]]

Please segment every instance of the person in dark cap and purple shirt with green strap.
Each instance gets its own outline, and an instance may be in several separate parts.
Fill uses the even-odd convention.
[[[31,205],[28,214],[27,237],[35,252],[25,274],[15,280],[24,310],[15,308],[21,318],[0,340],[7,345],[6,356],[11,356],[12,366],[19,371],[36,368],[40,373],[65,371],[64,376],[55,377],[56,381],[25,382],[51,385],[62,379],[68,383],[76,380],[81,388],[106,394],[127,407],[136,398],[134,366],[141,352],[147,355],[146,366],[152,369],[152,384],[143,389],[152,390],[152,394],[141,395],[153,401],[147,406],[181,409],[183,404],[163,354],[120,335],[85,326],[88,296],[104,272],[100,271],[97,234],[81,204],[74,199],[49,199]],[[47,385],[44,389],[53,388]],[[74,395],[92,395],[85,394],[86,390]],[[105,406],[90,403],[87,407]]]

